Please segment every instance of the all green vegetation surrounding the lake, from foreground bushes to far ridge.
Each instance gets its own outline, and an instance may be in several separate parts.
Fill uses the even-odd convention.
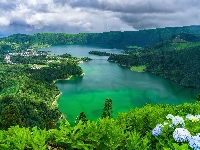
[[[37,48],[57,44],[110,44],[111,47],[133,48],[134,50],[126,54],[110,54],[108,60],[131,67],[133,71],[145,69],[176,81],[180,85],[200,88],[200,40],[196,36],[199,34],[199,27],[193,26],[190,29],[192,30],[183,27],[77,35],[15,34],[2,38],[0,41],[0,148],[192,149],[188,141],[177,142],[169,126],[162,129],[165,132],[160,136],[153,136],[152,130],[157,124],[164,124],[168,114],[182,118],[186,118],[188,114],[199,115],[199,95],[195,104],[185,103],[178,106],[148,104],[143,108],[119,113],[116,119],[112,118],[112,101],[108,99],[100,119],[87,120],[82,112],[73,126],[67,120],[61,119],[62,114],[55,103],[61,93],[54,82],[82,75],[78,63],[90,59],[76,58],[70,54],[48,55],[37,52]],[[173,35],[182,31],[195,35],[185,33]],[[38,55],[33,54],[34,52]],[[198,119],[185,121],[187,124],[184,128],[191,133],[192,137],[200,133]],[[175,126],[178,127],[180,126]]]

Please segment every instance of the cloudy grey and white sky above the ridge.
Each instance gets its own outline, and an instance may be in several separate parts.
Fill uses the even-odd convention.
[[[1,0],[0,35],[200,25],[199,0]]]

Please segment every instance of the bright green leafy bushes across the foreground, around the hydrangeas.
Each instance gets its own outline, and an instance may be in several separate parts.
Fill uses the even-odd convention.
[[[184,142],[177,143],[167,133],[158,140],[152,130],[166,121],[168,114],[182,117],[200,114],[199,107],[198,102],[178,106],[146,105],[119,113],[116,119],[106,117],[86,123],[80,120],[73,127],[65,120],[58,129],[50,130],[13,126],[7,131],[0,130],[0,149],[191,149]],[[187,124],[187,129],[194,136],[200,132],[199,128],[194,128],[200,126],[200,121],[191,123]],[[171,144],[165,144],[168,142]]]

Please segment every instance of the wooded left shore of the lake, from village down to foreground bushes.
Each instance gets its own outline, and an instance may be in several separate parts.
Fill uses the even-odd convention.
[[[22,59],[31,56],[15,57]],[[68,60],[60,57],[59,60],[42,58],[43,65],[26,61],[0,63],[0,128],[7,129],[17,124],[41,129],[55,127],[61,112],[57,107],[60,91],[53,82],[72,75],[79,76],[82,69],[73,57]]]

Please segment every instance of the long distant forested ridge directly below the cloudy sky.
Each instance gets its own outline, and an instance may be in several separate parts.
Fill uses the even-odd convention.
[[[180,33],[200,35],[200,26],[168,27],[140,31],[111,31],[103,33],[36,33],[34,35],[14,34],[0,41],[23,44],[23,47],[59,44],[106,44],[111,48],[150,46]],[[1,50],[1,47],[0,47]]]

